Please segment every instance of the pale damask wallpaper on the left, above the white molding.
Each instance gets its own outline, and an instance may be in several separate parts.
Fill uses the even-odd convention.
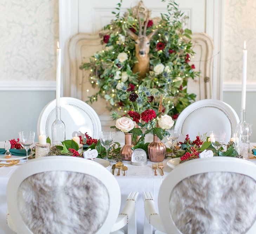
[[[55,80],[58,0],[1,0],[0,15],[0,80]]]

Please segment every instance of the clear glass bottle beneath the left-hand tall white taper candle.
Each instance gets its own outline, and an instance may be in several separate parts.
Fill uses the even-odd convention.
[[[56,120],[52,124],[52,144],[62,145],[61,141],[65,141],[65,124],[60,118],[60,106],[56,106]]]

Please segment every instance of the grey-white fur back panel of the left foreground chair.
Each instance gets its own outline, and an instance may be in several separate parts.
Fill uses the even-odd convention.
[[[35,234],[91,234],[106,219],[109,195],[103,183],[90,175],[43,172],[21,183],[18,207]]]

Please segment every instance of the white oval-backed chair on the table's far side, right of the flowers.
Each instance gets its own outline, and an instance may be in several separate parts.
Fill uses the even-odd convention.
[[[198,133],[209,135],[212,130],[221,130],[226,132],[225,142],[229,142],[238,122],[238,115],[230,105],[215,99],[204,99],[186,107],[179,114],[176,126],[180,126],[184,139],[186,134],[190,139],[196,139]],[[180,141],[184,139],[180,137]]]

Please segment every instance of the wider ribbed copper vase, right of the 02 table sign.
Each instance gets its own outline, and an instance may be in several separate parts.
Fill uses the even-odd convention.
[[[149,143],[147,147],[147,151],[149,153],[149,160],[151,162],[162,162],[166,153],[166,146],[157,135],[153,136],[153,142]]]

